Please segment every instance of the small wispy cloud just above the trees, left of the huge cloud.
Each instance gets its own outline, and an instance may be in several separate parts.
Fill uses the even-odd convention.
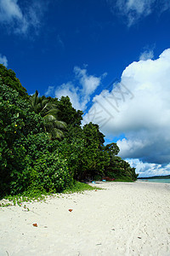
[[[85,110],[90,101],[90,96],[92,96],[94,91],[98,88],[105,74],[101,77],[88,75],[87,69],[81,69],[80,67],[74,67],[74,73],[74,83],[70,81],[66,84],[61,84],[55,90],[55,96],[58,98],[61,96],[69,96],[74,108]]]

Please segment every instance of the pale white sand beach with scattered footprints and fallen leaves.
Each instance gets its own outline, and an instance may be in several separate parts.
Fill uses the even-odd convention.
[[[1,208],[0,255],[170,255],[170,184],[97,185]]]

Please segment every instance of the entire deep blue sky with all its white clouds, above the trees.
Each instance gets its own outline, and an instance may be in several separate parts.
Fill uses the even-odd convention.
[[[70,96],[139,176],[170,174],[170,3],[0,0],[0,62]]]

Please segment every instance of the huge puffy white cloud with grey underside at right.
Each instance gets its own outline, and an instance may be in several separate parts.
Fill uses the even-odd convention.
[[[170,162],[170,49],[156,60],[130,64],[121,82],[94,97],[85,115],[108,137],[125,134],[117,144],[122,158]]]

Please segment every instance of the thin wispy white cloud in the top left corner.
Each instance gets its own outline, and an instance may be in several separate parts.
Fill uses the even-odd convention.
[[[26,34],[32,28],[37,32],[46,5],[35,0],[21,9],[18,0],[0,0],[0,24],[14,33]]]

